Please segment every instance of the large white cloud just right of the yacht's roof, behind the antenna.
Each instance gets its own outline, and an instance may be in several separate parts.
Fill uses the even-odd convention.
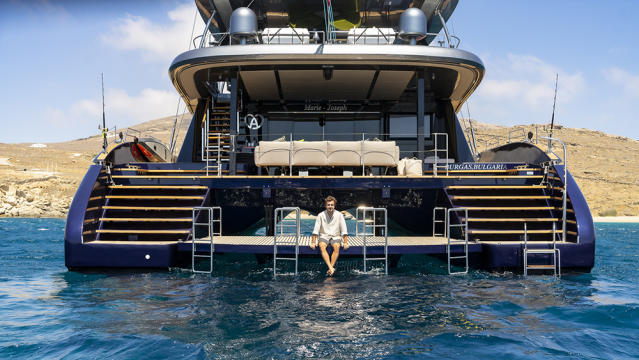
[[[545,123],[550,120],[559,74],[557,111],[577,99],[585,90],[580,72],[568,72],[531,55],[509,54],[503,59],[488,57],[486,77],[471,97],[471,114],[477,120],[513,125]]]

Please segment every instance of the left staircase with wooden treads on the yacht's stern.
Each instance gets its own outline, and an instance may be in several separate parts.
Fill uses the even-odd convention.
[[[207,196],[208,188],[199,185],[109,185],[96,241],[186,240],[192,210]]]

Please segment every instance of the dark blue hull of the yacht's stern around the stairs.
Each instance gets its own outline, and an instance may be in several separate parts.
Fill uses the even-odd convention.
[[[174,163],[146,165],[157,169],[194,169],[199,164]],[[557,166],[557,173],[563,168]],[[98,227],[95,221],[102,208],[91,205],[100,184],[104,182],[102,168],[93,165],[89,168],[71,204],[65,230],[65,259],[68,268],[170,268],[190,266],[190,242],[130,241],[108,243],[90,238]],[[563,180],[563,179],[562,179]],[[529,185],[537,180],[526,177],[510,178],[509,185]],[[131,177],[120,180],[123,185],[200,185],[208,191],[208,205],[221,206],[223,209],[223,229],[225,234],[241,233],[244,229],[267,217],[268,212],[277,207],[299,206],[311,212],[321,209],[321,199],[333,194],[340,199],[342,209],[355,208],[361,204],[388,209],[391,223],[408,230],[413,236],[432,234],[432,209],[446,204],[447,186],[459,185],[501,185],[504,179],[483,177],[184,177],[184,178],[145,178]],[[594,265],[595,237],[590,210],[574,179],[568,178],[568,196],[571,211],[574,212],[577,236],[571,243],[561,243],[561,266],[563,269],[589,271]],[[272,220],[271,220],[272,221]],[[267,221],[268,223],[268,221]],[[93,224],[93,225],[92,225]],[[392,230],[391,230],[392,231]],[[469,252],[471,266],[483,269],[522,270],[523,244],[496,243],[488,241],[473,243]],[[200,245],[198,251],[208,251]],[[216,245],[216,253],[253,253],[272,254],[272,246],[259,245]],[[282,250],[284,253],[292,249]],[[379,253],[381,248],[370,249],[370,253]],[[352,247],[344,251],[346,256],[361,256],[362,249]],[[303,256],[316,256],[317,252],[301,248]],[[389,247],[389,254],[426,254],[445,256],[446,247],[397,246]],[[186,263],[185,263],[186,262]]]

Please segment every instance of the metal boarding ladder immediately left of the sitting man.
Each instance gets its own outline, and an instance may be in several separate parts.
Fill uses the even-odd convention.
[[[295,217],[290,218],[288,215],[295,212]],[[281,207],[275,209],[273,217],[273,277],[277,276],[277,261],[295,261],[295,275],[297,275],[297,266],[300,247],[300,208],[299,207]],[[278,246],[294,246],[295,256],[284,257],[277,256]]]

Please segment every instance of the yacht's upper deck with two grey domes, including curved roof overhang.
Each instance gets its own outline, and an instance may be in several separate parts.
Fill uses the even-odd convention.
[[[241,1],[196,4],[206,21],[204,33],[194,39],[199,46],[169,68],[192,112],[215,83],[233,77],[251,101],[283,104],[397,101],[421,76],[427,91],[458,110],[485,71],[477,56],[457,49],[459,39],[445,27],[457,5],[453,0],[400,1],[383,8],[361,0],[329,3],[330,9],[305,0],[251,2],[250,9],[239,8]],[[433,45],[442,30],[443,40]]]

